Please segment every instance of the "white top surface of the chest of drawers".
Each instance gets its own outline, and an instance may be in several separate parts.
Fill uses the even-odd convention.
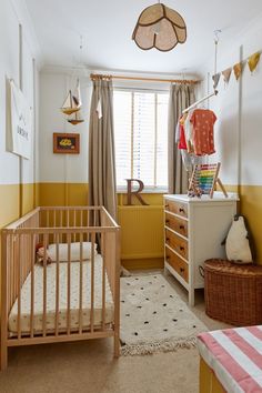
[[[201,195],[201,198],[198,196],[188,196],[187,194],[165,194],[164,198],[168,198],[170,200],[174,201],[181,201],[181,202],[187,202],[187,203],[210,203],[210,202],[232,202],[232,201],[239,201],[239,195],[236,192],[228,192],[228,198],[224,196],[224,194],[220,191],[215,191],[213,194],[213,198],[210,198],[210,195]]]

